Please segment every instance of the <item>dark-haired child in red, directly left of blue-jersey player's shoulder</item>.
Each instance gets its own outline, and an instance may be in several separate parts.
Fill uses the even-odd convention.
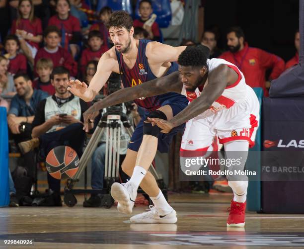
[[[109,48],[103,45],[102,34],[97,30],[92,30],[88,34],[89,48],[83,50],[80,60],[81,72],[84,74],[85,66],[88,61],[99,61],[101,55],[109,50]]]

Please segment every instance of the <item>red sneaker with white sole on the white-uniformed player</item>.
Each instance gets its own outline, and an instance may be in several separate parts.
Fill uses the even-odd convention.
[[[246,202],[231,201],[230,213],[227,219],[227,227],[245,226]]]

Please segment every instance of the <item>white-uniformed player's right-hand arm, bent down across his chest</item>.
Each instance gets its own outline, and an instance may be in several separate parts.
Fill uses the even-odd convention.
[[[170,121],[166,121],[166,123],[169,124],[160,128],[167,130],[172,129],[203,113],[221,96],[225,87],[236,82],[237,79],[238,75],[233,69],[224,64],[220,65],[209,74],[208,84],[204,87],[201,95],[194,99],[184,110],[174,116]],[[159,122],[159,120],[154,120],[154,122],[152,120],[153,123],[157,124],[155,121]]]

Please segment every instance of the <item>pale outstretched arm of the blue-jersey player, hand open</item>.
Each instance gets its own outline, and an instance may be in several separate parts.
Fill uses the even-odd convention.
[[[84,82],[70,81],[68,90],[84,101],[92,101],[100,89],[109,79],[112,69],[117,63],[113,58],[110,58],[106,53],[103,54],[98,62],[97,71],[93,76],[89,86]]]

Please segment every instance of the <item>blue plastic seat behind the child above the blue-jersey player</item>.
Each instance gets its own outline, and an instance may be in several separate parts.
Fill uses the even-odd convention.
[[[170,0],[151,0],[151,1],[152,1],[153,13],[157,15],[156,22],[158,23],[158,26],[160,28],[168,27],[172,17]],[[136,3],[135,16],[134,16],[135,19],[140,18],[139,3],[140,0],[138,0]]]

